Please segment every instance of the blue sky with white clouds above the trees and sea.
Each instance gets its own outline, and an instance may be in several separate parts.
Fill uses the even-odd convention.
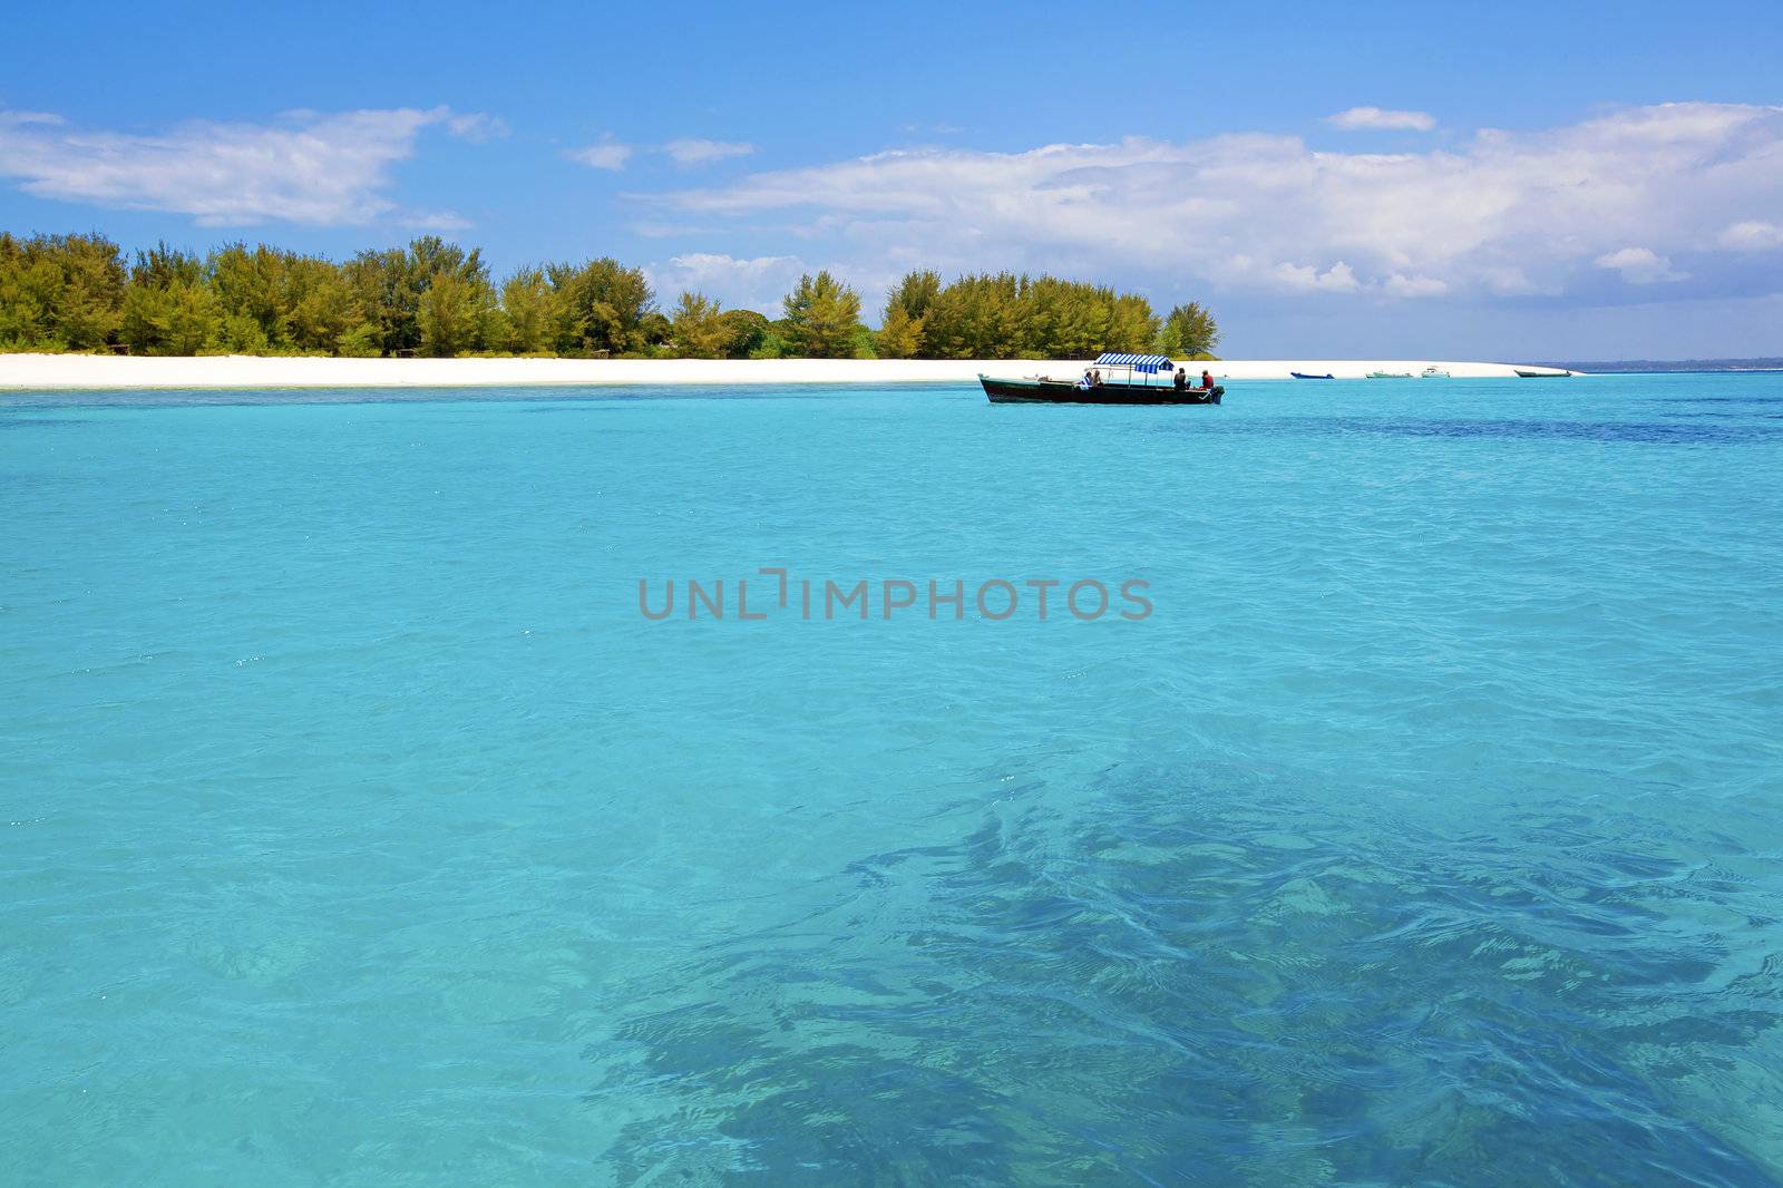
[[[774,312],[833,268],[1198,298],[1228,357],[1783,353],[1783,4],[32,5],[0,227]],[[23,48],[23,52],[20,52]]]

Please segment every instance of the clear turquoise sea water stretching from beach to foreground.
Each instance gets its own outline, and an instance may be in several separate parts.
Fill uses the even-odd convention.
[[[1783,378],[292,398],[0,394],[0,1181],[1783,1183]]]

